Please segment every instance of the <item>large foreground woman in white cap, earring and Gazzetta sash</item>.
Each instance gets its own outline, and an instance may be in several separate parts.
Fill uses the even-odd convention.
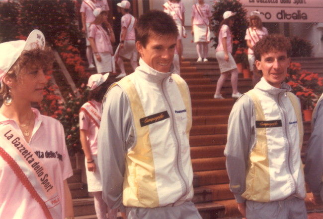
[[[0,218],[74,217],[62,124],[31,108],[43,99],[53,55],[42,32],[0,44]]]

